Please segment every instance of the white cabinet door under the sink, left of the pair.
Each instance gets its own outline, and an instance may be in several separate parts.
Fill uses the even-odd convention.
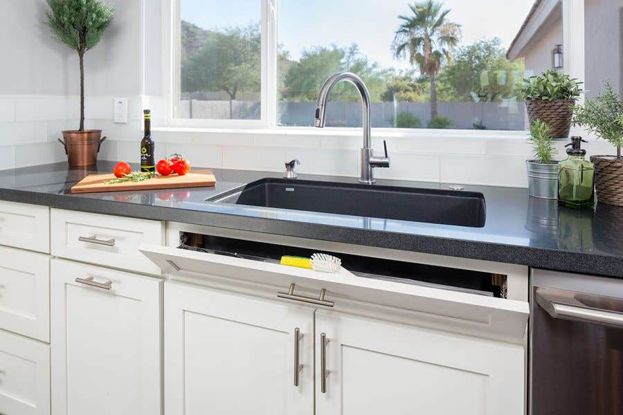
[[[310,308],[165,283],[165,413],[313,414],[313,329]]]

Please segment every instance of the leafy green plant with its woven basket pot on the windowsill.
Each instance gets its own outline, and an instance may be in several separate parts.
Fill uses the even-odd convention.
[[[571,126],[572,107],[582,92],[581,82],[550,69],[531,76],[520,86],[530,125],[535,120],[550,126],[553,138],[566,138]]]

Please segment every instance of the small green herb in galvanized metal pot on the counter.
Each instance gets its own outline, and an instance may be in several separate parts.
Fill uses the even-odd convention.
[[[548,124],[539,118],[534,120],[529,138],[534,159],[525,162],[530,196],[541,199],[558,198],[558,161],[554,160],[557,151],[550,131]]]

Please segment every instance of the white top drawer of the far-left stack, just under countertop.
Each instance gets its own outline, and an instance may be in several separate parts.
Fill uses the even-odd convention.
[[[50,209],[0,201],[0,245],[50,252]]]

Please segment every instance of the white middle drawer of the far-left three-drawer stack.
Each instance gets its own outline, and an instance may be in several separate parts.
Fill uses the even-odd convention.
[[[49,293],[48,255],[0,246],[0,329],[49,342]]]

